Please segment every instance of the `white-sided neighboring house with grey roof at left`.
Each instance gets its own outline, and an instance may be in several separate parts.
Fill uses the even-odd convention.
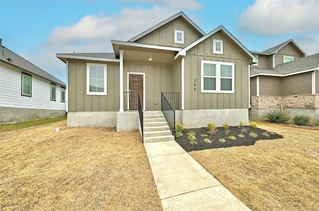
[[[4,47],[0,39],[0,124],[66,115],[66,84]]]

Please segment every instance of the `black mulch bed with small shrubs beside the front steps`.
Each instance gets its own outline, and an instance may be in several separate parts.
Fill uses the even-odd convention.
[[[271,131],[263,130],[260,128],[250,128],[248,126],[245,126],[248,128],[248,131],[245,134],[245,137],[239,137],[238,135],[242,133],[241,129],[238,127],[229,127],[229,133],[225,134],[225,130],[223,127],[217,127],[217,132],[215,134],[208,134],[207,131],[208,129],[206,127],[204,128],[193,128],[193,129],[184,129],[183,131],[183,136],[181,137],[176,137],[175,140],[176,142],[186,151],[186,152],[191,152],[191,151],[198,151],[198,150],[203,150],[203,149],[215,149],[215,148],[225,148],[225,147],[233,147],[233,146],[250,146],[254,145],[256,141],[258,140],[269,140],[269,139],[278,139],[278,138],[283,138],[282,135],[279,135],[277,133],[273,133]],[[196,145],[191,145],[189,143],[189,139],[187,138],[187,132],[189,131],[194,131],[196,133]],[[257,138],[254,138],[249,135],[250,132],[255,132],[258,134]],[[269,137],[262,135],[263,132],[267,132],[269,134]],[[206,137],[201,137],[201,134],[207,134],[208,136]],[[236,137],[236,140],[231,140],[228,137],[230,135],[233,135]],[[209,138],[212,143],[205,143],[203,140],[205,138]],[[218,140],[220,138],[223,138],[226,140],[225,143],[221,143]]]

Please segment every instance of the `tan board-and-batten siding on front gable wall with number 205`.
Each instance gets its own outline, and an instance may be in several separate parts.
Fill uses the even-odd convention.
[[[223,54],[212,53],[213,39],[223,40]],[[201,93],[200,62],[218,61],[235,64],[234,94]],[[248,64],[251,58],[245,56],[236,43],[222,32],[217,32],[186,52],[185,56],[185,109],[229,109],[248,108]],[[195,89],[194,89],[195,88]]]

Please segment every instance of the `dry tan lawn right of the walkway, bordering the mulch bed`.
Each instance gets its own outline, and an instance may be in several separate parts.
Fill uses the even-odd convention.
[[[284,138],[189,154],[253,211],[318,211],[319,131],[258,127]]]

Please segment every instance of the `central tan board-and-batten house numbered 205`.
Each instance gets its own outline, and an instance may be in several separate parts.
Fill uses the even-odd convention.
[[[127,111],[135,92],[145,111],[161,110],[161,92],[174,93],[169,101],[185,128],[249,123],[248,67],[257,58],[223,26],[206,34],[179,12],[111,42],[114,53],[57,54],[67,66],[69,126],[138,129],[139,112]]]

